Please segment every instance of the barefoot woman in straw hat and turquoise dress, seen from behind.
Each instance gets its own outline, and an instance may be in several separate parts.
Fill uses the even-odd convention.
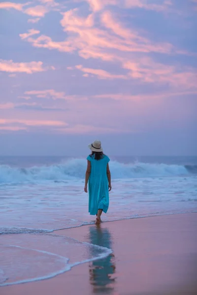
[[[109,207],[109,191],[111,190],[111,174],[109,158],[103,154],[99,140],[88,146],[92,153],[87,157],[84,191],[89,189],[89,212],[97,215],[96,224],[100,224],[100,215],[107,212]]]

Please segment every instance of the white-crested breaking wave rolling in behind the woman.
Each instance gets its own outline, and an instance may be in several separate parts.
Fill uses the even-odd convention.
[[[0,183],[18,183],[26,181],[54,180],[65,181],[83,179],[86,171],[85,159],[70,159],[58,165],[13,168],[0,165]],[[117,161],[110,162],[111,176],[117,178],[133,177],[168,177],[197,174],[197,165],[167,165],[149,163],[124,164]]]

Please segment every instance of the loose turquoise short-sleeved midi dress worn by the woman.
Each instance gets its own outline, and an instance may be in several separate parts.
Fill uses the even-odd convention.
[[[91,215],[96,215],[98,209],[107,212],[109,207],[109,191],[107,178],[107,163],[110,159],[103,155],[100,160],[95,160],[95,157],[90,155],[87,160],[91,162],[91,173],[88,179],[89,190],[89,212]]]

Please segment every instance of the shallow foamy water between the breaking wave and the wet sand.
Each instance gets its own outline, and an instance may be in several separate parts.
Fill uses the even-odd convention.
[[[103,214],[103,221],[190,212],[197,208],[194,176],[116,179],[112,183],[110,207]],[[79,179],[1,185],[0,232],[19,232],[17,228],[55,230],[93,222],[83,186],[84,180]]]

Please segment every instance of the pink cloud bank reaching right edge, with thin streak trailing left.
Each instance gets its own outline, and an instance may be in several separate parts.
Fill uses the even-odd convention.
[[[75,68],[85,74],[92,74],[98,79],[137,79],[145,83],[167,84],[173,88],[196,89],[196,71],[193,68],[177,68],[164,65],[151,58],[135,58],[134,61],[122,60],[122,67],[128,72],[124,75],[111,74],[102,69],[83,67],[81,64]]]

